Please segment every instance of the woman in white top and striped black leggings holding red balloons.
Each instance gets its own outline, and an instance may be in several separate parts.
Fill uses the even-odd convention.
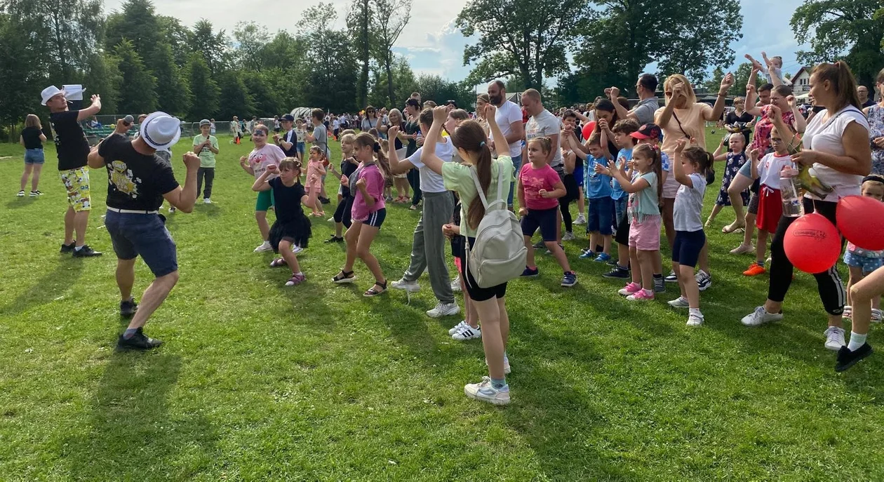
[[[869,124],[860,111],[857,80],[843,61],[817,65],[811,74],[810,86],[817,105],[826,110],[820,111],[807,126],[802,140],[804,149],[793,155],[792,160],[796,164],[812,166],[817,178],[833,187],[833,191],[824,198],[804,195],[804,212],[819,212],[837,226],[835,208],[838,200],[848,195],[859,195],[863,176],[872,168]],[[772,111],[773,119],[782,124],[778,109]],[[785,129],[788,127],[777,126],[779,132],[789,132]],[[793,266],[783,250],[783,236],[795,219],[780,218],[771,245],[767,301],[764,306],[743,317],[743,325],[763,325],[782,319],[782,302],[789,291],[793,272]],[[847,298],[841,277],[835,265],[813,276],[817,279],[819,298],[828,313],[826,348],[839,350],[845,344],[842,312]]]

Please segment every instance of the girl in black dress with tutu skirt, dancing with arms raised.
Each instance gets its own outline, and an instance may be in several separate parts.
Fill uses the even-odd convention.
[[[277,178],[267,180],[269,176],[279,173]],[[314,176],[316,177],[316,176]],[[309,180],[316,181],[316,180]],[[292,269],[292,278],[286,281],[286,287],[300,285],[306,279],[298,264],[298,257],[292,252],[294,246],[307,248],[310,239],[310,220],[304,215],[301,204],[316,205],[316,189],[310,195],[301,185],[301,162],[294,157],[286,157],[279,166],[269,165],[267,171],[255,180],[253,191],[273,189],[274,206],[277,220],[271,226],[269,240],[273,251],[280,256],[271,263],[271,268],[288,265]]]

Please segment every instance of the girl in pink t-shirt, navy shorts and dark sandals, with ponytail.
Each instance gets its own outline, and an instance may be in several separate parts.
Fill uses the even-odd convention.
[[[350,187],[353,193],[353,224],[344,233],[347,241],[347,261],[340,272],[331,279],[334,283],[352,283],[356,279],[353,265],[358,256],[368,266],[375,277],[375,285],[370,287],[365,296],[377,296],[386,291],[387,279],[381,271],[377,258],[371,254],[371,242],[384,224],[386,206],[384,203],[384,182],[390,176],[390,168],[381,146],[371,134],[362,133],[354,140],[354,157],[359,167],[349,178],[341,176],[342,185]],[[377,159],[376,159],[377,158]]]

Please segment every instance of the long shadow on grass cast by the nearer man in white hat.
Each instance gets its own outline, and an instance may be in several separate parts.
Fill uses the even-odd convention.
[[[180,370],[180,357],[162,352],[110,356],[88,430],[62,448],[73,479],[186,479],[214,463],[217,434],[209,421],[169,413]]]

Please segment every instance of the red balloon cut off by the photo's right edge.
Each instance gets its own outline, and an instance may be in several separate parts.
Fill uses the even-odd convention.
[[[858,248],[884,249],[884,203],[865,195],[849,195],[835,210],[838,230]]]

